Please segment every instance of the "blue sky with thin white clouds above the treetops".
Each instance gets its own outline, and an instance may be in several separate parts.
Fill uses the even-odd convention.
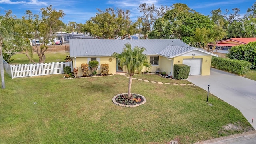
[[[52,5],[56,10],[63,10],[66,14],[62,21],[64,23],[76,22],[84,24],[86,20],[94,17],[96,8],[105,10],[106,8],[121,8],[130,10],[130,18],[136,20],[142,14],[139,12],[139,4],[155,4],[158,8],[172,6],[175,3],[187,4],[189,8],[204,15],[210,15],[212,10],[220,8],[232,11],[232,8],[240,8],[240,15],[244,15],[246,10],[254,4],[255,0],[0,0],[0,14],[4,11],[12,10],[18,18],[25,15],[26,10],[31,10],[33,14],[40,14],[40,8]]]

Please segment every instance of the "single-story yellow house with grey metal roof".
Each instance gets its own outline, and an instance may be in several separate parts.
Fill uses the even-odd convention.
[[[109,64],[109,73],[116,74],[126,72],[125,68],[118,66],[118,61],[112,58],[114,52],[122,52],[124,44],[130,43],[144,47],[144,53],[152,64],[149,72],[155,72],[160,67],[162,72],[173,74],[174,64],[186,64],[191,66],[190,75],[210,75],[212,56],[218,56],[204,50],[193,48],[179,39],[158,40],[81,40],[70,39],[70,57],[73,58],[73,66],[78,67],[81,76],[81,64],[91,60],[97,60],[100,64]],[[144,70],[146,72],[146,69]],[[91,72],[90,72],[91,74]],[[100,74],[100,65],[98,68]]]

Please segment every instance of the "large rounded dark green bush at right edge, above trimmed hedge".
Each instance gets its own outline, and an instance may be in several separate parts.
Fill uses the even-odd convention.
[[[251,62],[252,69],[256,69],[256,42],[234,46],[226,56],[230,59],[245,60]]]

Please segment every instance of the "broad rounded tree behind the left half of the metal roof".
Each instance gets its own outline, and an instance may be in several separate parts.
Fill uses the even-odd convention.
[[[130,19],[130,10],[107,8],[106,11],[98,9],[96,16],[86,21],[84,32],[89,32],[96,38],[123,39],[133,34],[131,32],[135,28]]]

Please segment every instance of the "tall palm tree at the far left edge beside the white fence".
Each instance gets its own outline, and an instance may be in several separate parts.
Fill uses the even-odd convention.
[[[25,26],[25,27],[24,27]],[[23,45],[28,48],[28,42],[21,38],[18,34],[15,33],[15,29],[26,28],[26,25],[18,19],[13,19],[10,16],[0,16],[0,74],[2,89],[5,88],[4,82],[4,64],[3,64],[3,42],[4,40],[8,42],[14,42],[19,45]]]

